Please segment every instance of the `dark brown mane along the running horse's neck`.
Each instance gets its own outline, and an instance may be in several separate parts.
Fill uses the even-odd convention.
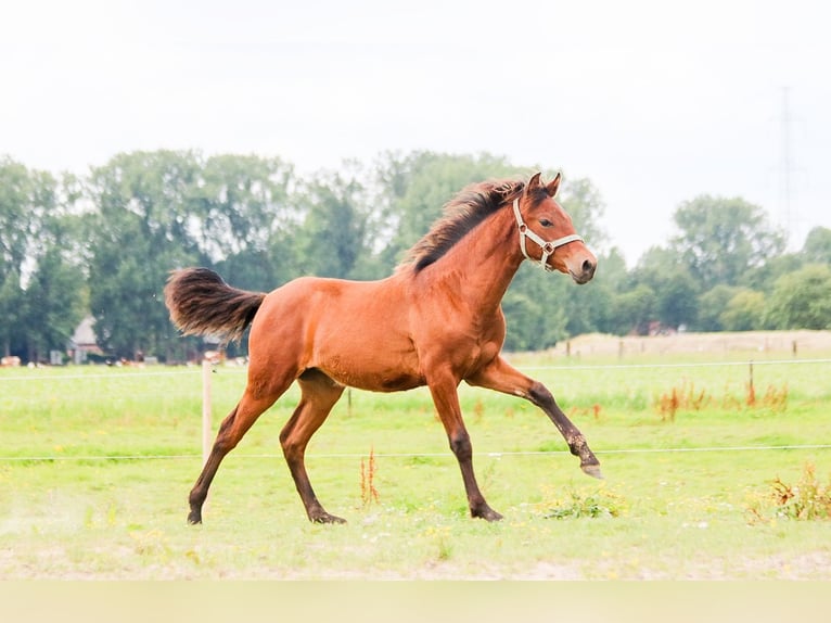
[[[445,204],[442,218],[412,245],[398,270],[411,268],[419,272],[434,264],[501,205],[513,201],[524,188],[524,181],[509,178],[482,181],[462,189]]]

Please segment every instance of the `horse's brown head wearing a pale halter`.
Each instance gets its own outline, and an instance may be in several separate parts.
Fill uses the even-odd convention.
[[[525,257],[546,270],[559,270],[577,283],[586,283],[595,276],[598,259],[577,234],[572,217],[555,201],[559,188],[559,173],[548,185],[536,174],[514,200],[520,247]]]

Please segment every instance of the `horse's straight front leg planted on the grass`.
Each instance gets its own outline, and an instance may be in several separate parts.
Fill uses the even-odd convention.
[[[462,410],[459,405],[457,393],[459,382],[451,376],[433,379],[427,382],[433,403],[436,405],[438,417],[450,441],[450,449],[459,461],[464,481],[464,491],[468,494],[468,505],[471,517],[481,517],[487,521],[499,521],[502,516],[490,508],[476,483],[473,473],[473,446],[468,430],[462,420]]]

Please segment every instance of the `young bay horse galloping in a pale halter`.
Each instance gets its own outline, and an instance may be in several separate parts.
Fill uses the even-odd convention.
[[[184,334],[239,339],[248,325],[250,366],[242,398],[222,421],[189,496],[190,523],[219,463],[257,418],[297,381],[301,400],[280,444],[312,522],[343,523],[318,501],[305,452],[346,386],[398,392],[426,385],[459,461],[471,517],[497,521],[473,472],[473,449],[458,386],[525,398],[553,421],[584,472],[602,478],[586,438],[545,385],[511,367],[501,300],[528,259],[576,283],[597,259],[555,201],[561,176],[489,180],[463,189],[392,276],[378,281],[301,277],[270,293],[228,285],[206,268],[174,270],[165,287],[172,322]]]

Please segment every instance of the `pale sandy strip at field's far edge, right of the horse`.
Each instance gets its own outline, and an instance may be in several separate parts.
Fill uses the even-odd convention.
[[[831,352],[831,331],[745,331],[739,333],[674,333],[669,335],[605,335],[590,333],[560,342],[553,353],[579,355],[663,355],[675,353],[781,353],[810,356]]]

